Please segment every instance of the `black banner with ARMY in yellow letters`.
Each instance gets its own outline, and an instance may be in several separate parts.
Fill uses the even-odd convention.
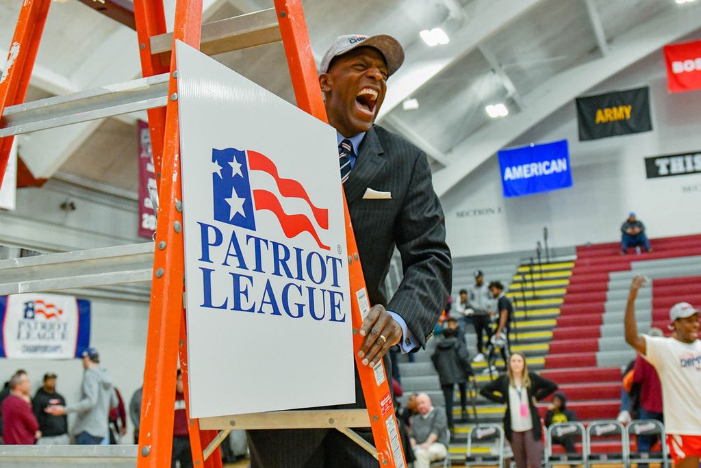
[[[649,132],[653,129],[650,120],[650,90],[647,86],[578,97],[576,101],[580,142]]]

